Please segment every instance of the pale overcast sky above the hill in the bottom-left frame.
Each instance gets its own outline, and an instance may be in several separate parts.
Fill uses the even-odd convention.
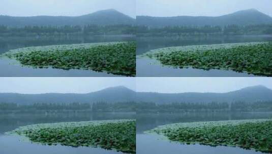
[[[0,93],[89,93],[108,87],[136,89],[135,78],[0,78]]]

